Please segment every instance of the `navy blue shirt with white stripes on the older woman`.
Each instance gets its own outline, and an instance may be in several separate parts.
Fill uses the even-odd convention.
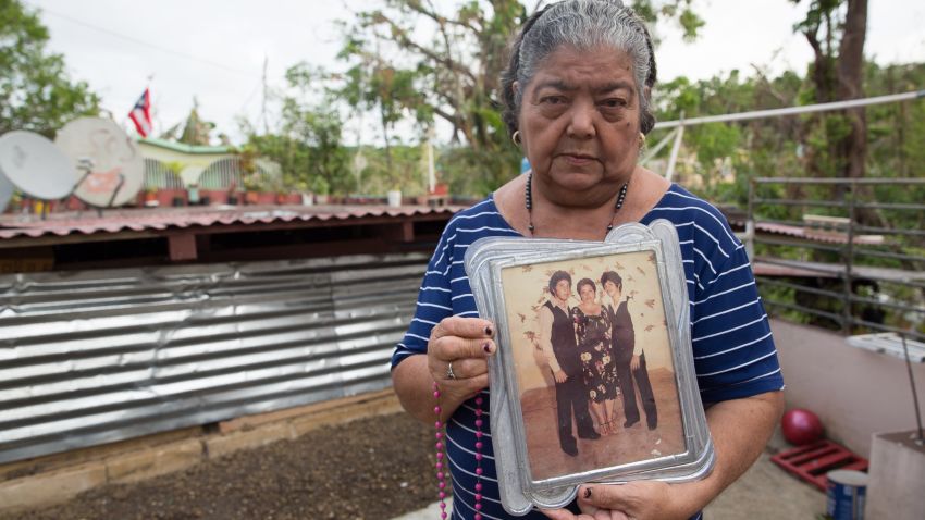
[[[704,403],[749,397],[784,388],[767,314],[755,286],[744,246],[713,206],[673,184],[640,221],[666,219],[675,224],[681,246],[691,306],[691,344]],[[449,315],[478,317],[462,265],[466,248],[484,236],[521,236],[502,218],[494,198],[456,214],[443,232],[418,296],[418,307],[405,338],[392,356],[393,368],[408,356],[425,354],[431,329]],[[483,391],[488,412],[489,391]],[[490,432],[490,413],[482,416]],[[464,404],[446,426],[446,451],[453,479],[453,518],[476,513],[476,410]],[[486,433],[485,437],[491,438]],[[484,438],[484,437],[483,437]],[[498,499],[490,442],[483,443],[482,517],[514,518]],[[544,519],[531,512],[525,519]],[[694,518],[700,518],[698,515]]]

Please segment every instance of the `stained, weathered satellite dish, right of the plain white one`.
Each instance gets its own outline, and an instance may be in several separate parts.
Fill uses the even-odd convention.
[[[54,143],[81,172],[74,195],[90,206],[122,206],[134,200],[145,183],[141,152],[111,120],[74,120],[58,132]]]

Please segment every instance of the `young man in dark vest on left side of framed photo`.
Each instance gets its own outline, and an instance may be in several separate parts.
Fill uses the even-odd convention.
[[[601,435],[594,431],[588,413],[588,393],[581,373],[575,322],[568,307],[569,296],[571,276],[565,271],[556,271],[550,278],[550,299],[540,308],[540,348],[546,354],[556,381],[559,446],[575,457],[578,444],[571,435],[572,414],[579,438],[595,439]]]

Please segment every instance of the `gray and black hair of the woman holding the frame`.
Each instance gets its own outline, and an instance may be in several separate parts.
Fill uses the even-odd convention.
[[[629,54],[639,92],[640,129],[643,134],[652,131],[655,116],[644,87],[655,85],[656,67],[645,24],[619,0],[564,0],[533,13],[514,41],[501,78],[502,117],[511,135],[517,131],[523,90],[542,61],[563,46],[579,50],[607,46]],[[520,86],[516,91],[515,82]]]

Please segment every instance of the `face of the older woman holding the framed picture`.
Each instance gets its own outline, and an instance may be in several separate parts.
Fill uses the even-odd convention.
[[[576,195],[629,179],[639,154],[639,96],[626,52],[563,47],[546,57],[519,115],[534,174]]]

